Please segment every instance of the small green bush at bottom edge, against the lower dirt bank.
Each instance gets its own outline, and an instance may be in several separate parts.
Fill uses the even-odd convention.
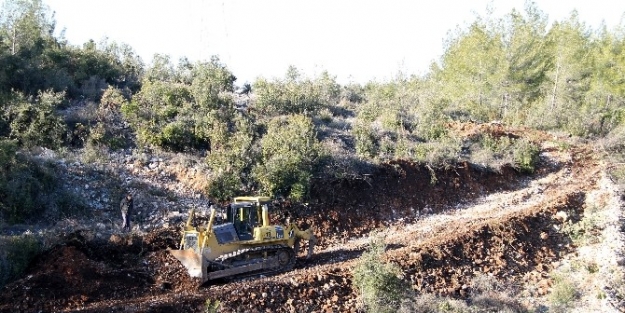
[[[399,276],[401,269],[383,260],[384,240],[373,236],[370,247],[353,270],[354,287],[366,312],[396,312],[410,286]]]

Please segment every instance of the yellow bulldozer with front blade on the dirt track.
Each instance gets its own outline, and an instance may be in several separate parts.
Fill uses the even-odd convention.
[[[269,197],[236,197],[219,210],[210,208],[208,221],[195,226],[191,209],[179,250],[169,250],[191,277],[201,284],[219,278],[267,275],[293,268],[301,240],[308,255],[317,242],[311,229],[297,225],[271,225]]]

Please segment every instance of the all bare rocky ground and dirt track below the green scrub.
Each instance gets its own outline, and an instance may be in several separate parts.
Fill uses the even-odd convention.
[[[288,207],[321,239],[311,260],[287,273],[200,288],[165,250],[178,244],[182,209],[205,205],[193,180],[164,175],[171,160],[126,164],[132,170],[122,180],[167,186],[187,200],[167,202],[137,188],[141,213],[131,234],[120,232],[112,208],[89,221],[60,223],[62,238],[2,290],[0,311],[199,312],[209,299],[220,302],[220,312],[356,312],[352,270],[375,231],[387,244],[384,259],[412,286],[406,312],[468,312],[469,305],[479,312],[622,312],[623,200],[609,164],[588,144],[563,149],[563,139],[546,133],[505,131],[540,140],[535,173],[390,162],[367,180],[317,182],[306,207]],[[119,166],[112,164],[100,171],[120,172],[106,168]],[[94,174],[75,185],[101,194],[96,181],[108,183]],[[575,294],[558,304],[552,295],[562,277]]]

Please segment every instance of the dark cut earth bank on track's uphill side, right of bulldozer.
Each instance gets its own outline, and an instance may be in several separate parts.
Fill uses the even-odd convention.
[[[537,174],[535,177],[539,176]],[[485,171],[467,162],[450,168],[393,161],[362,180],[317,181],[308,208],[293,209],[326,247],[394,223],[411,223],[489,193],[520,188],[529,176],[512,167]]]

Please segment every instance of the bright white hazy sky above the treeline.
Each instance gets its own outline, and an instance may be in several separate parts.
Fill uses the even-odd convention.
[[[0,0],[4,1],[4,0]],[[57,32],[70,43],[103,37],[127,43],[149,63],[154,53],[176,61],[218,55],[239,78],[283,77],[289,65],[307,75],[323,70],[341,83],[386,80],[399,71],[423,74],[438,60],[447,33],[523,0],[43,0],[56,12]],[[619,25],[622,0],[537,0],[550,21],[577,9],[596,29]]]

